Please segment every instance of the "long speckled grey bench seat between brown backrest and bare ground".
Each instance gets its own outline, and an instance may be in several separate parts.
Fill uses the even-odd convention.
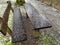
[[[17,6],[14,8],[12,42],[21,42],[26,39],[27,37],[23,26],[22,15]]]

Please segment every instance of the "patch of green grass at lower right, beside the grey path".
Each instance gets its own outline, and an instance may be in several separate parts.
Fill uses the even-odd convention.
[[[56,45],[57,39],[50,36],[50,33],[46,35],[40,34],[38,45],[40,45],[40,43],[42,43],[42,45]]]

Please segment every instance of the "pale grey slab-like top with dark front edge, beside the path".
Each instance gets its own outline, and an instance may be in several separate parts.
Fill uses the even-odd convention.
[[[51,27],[51,24],[46,19],[46,17],[44,17],[42,14],[39,14],[39,12],[31,4],[26,3],[24,4],[24,7],[34,29],[44,29]]]

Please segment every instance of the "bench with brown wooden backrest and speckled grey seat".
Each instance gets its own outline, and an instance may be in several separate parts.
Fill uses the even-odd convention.
[[[9,13],[10,9],[14,13],[14,20],[13,20],[13,30],[11,30],[8,27],[8,19],[9,19]],[[27,39],[26,33],[23,27],[23,22],[22,22],[22,15],[20,12],[20,9],[17,7],[14,8],[14,10],[11,7],[11,2],[8,1],[7,8],[4,12],[3,17],[0,17],[0,32],[3,35],[6,35],[7,31],[12,37],[12,42],[20,42],[24,41]]]

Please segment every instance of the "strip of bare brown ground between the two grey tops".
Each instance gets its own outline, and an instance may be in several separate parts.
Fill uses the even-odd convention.
[[[34,30],[33,26],[31,24],[31,21],[28,19],[26,19],[26,16],[23,17],[23,21],[24,21],[24,27],[26,29],[26,33],[27,33],[27,40],[22,42],[23,45],[38,45],[36,44],[35,38],[34,38]]]

